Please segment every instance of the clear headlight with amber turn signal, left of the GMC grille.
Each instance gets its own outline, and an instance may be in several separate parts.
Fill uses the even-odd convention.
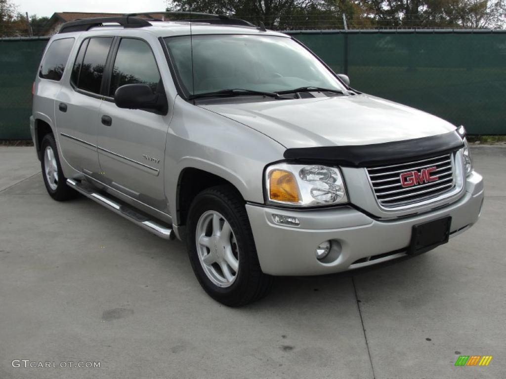
[[[278,163],[266,170],[267,202],[318,207],[348,202],[338,167]]]

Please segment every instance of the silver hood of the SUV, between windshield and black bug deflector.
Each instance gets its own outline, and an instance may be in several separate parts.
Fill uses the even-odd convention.
[[[364,94],[200,107],[256,129],[287,149],[381,144],[455,130],[436,116]]]

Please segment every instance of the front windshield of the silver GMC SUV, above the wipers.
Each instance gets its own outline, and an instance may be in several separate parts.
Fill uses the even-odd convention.
[[[301,87],[345,89],[309,51],[287,37],[213,34],[167,37],[165,43],[188,94],[224,89],[278,92]]]

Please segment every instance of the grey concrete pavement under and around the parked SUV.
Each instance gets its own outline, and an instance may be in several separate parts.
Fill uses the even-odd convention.
[[[487,199],[449,244],[279,278],[265,300],[230,309],[201,290],[182,243],[85,198],[53,201],[33,148],[0,148],[0,378],[506,377],[506,148],[473,153]],[[459,355],[494,358],[455,367]]]

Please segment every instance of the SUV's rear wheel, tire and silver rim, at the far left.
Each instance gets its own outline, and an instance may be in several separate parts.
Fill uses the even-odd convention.
[[[40,164],[49,196],[57,201],[75,198],[77,192],[66,184],[58,158],[55,137],[46,134],[40,144]]]

